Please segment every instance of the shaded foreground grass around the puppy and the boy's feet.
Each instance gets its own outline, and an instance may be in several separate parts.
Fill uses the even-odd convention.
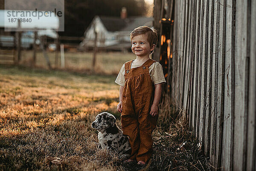
[[[170,108],[172,108],[170,110]],[[99,170],[106,171],[169,171],[205,170],[210,166],[198,147],[198,141],[191,136],[186,121],[177,114],[174,107],[162,108],[157,129],[154,130],[153,155],[144,167],[136,162],[127,164],[113,157],[108,151],[98,150],[97,131],[90,127],[93,117],[67,119],[44,129],[31,130],[22,136],[0,137],[0,165],[3,170]],[[67,108],[76,113],[78,108]],[[163,112],[166,111],[166,112]],[[108,111],[118,119],[119,113]],[[175,112],[175,113],[173,113]],[[177,116],[170,123],[165,118]],[[48,156],[62,159],[60,165],[47,164]],[[93,168],[92,168],[93,166]]]

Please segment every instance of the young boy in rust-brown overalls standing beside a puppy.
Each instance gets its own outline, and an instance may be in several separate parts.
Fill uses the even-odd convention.
[[[123,134],[129,136],[131,157],[144,165],[153,151],[151,133],[158,119],[158,103],[165,83],[163,68],[149,58],[157,43],[157,32],[147,26],[134,29],[131,50],[135,60],[125,62],[116,78],[119,88],[117,111],[121,113]]]

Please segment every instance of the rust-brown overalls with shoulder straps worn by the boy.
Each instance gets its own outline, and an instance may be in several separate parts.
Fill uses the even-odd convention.
[[[148,59],[140,67],[132,69],[132,60],[125,63],[121,123],[123,134],[129,136],[130,159],[137,161],[147,162],[153,152],[151,133],[156,127],[158,115],[149,114],[154,100],[154,84],[148,67],[154,62],[156,61]]]

